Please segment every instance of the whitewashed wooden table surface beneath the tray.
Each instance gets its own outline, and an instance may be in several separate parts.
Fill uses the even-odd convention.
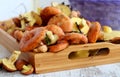
[[[0,45],[0,58],[9,56],[10,53]],[[20,72],[6,72],[0,69],[0,77],[24,77]],[[45,74],[31,74],[27,77],[120,77],[120,63],[79,68],[67,71],[58,71]]]

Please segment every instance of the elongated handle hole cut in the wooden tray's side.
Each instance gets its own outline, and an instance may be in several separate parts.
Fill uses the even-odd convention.
[[[106,56],[109,54],[109,52],[110,52],[109,48],[73,51],[68,55],[68,59],[79,59],[79,58],[87,58],[87,57],[94,57],[94,56]]]

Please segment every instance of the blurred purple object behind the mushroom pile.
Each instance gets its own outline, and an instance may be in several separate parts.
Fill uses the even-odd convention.
[[[120,30],[120,0],[69,0],[83,17]]]

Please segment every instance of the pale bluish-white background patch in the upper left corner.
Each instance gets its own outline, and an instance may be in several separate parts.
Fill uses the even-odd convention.
[[[33,8],[32,0],[0,0],[0,20],[18,16]]]

